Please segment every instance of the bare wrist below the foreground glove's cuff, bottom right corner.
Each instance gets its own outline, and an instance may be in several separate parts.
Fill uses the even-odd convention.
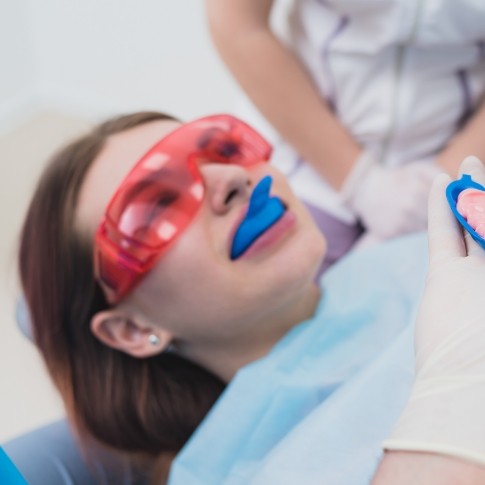
[[[372,485],[483,485],[485,467],[433,453],[389,451]]]

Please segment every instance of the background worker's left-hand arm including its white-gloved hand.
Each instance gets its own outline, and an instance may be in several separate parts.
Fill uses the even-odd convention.
[[[364,226],[383,239],[421,229],[436,170],[429,164],[384,169],[362,151],[297,57],[271,31],[273,0],[205,4],[214,44],[243,90]]]

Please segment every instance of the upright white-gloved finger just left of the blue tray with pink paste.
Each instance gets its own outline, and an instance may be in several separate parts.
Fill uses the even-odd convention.
[[[465,241],[458,221],[446,200],[446,187],[451,179],[447,174],[436,178],[428,203],[428,245],[430,266],[466,256]]]

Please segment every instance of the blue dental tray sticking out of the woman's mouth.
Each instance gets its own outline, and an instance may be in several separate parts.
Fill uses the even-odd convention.
[[[261,179],[254,188],[249,199],[248,211],[232,241],[231,259],[241,256],[266,229],[285,213],[281,200],[269,195],[272,182],[273,179],[268,175]]]

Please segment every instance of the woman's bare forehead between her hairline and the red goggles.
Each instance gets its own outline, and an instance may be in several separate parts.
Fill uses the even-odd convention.
[[[94,235],[108,202],[133,165],[179,125],[172,120],[152,121],[109,137],[79,194],[77,224],[84,232]]]

